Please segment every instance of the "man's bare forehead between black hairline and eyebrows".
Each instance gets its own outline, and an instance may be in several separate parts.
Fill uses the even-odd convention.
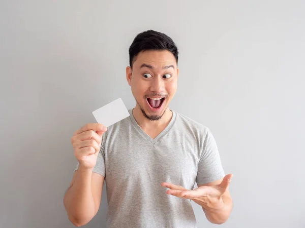
[[[167,50],[148,50],[140,52],[135,58],[133,65],[136,68],[140,68],[143,63],[152,65],[156,68],[163,68],[166,65],[173,65],[177,68],[176,58]]]

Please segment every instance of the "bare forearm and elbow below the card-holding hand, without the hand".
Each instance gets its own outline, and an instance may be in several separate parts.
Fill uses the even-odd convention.
[[[87,224],[97,214],[105,177],[79,167],[64,197],[69,220],[76,226]]]

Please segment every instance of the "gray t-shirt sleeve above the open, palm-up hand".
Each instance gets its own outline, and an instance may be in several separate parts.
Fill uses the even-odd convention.
[[[215,138],[208,128],[205,132],[198,162],[197,184],[213,182],[225,176]]]

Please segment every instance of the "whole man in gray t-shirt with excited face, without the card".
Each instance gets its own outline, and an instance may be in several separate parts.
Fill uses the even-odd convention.
[[[196,227],[191,200],[210,222],[224,223],[232,174],[224,174],[215,139],[168,108],[179,74],[176,45],[148,30],[129,54],[130,117],[108,129],[87,124],[71,139],[78,165],[64,199],[69,219],[81,226],[97,214],[106,180],[107,227]]]

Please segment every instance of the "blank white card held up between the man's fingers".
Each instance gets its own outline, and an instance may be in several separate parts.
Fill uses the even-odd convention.
[[[121,98],[100,107],[92,113],[97,122],[105,125],[106,127],[109,127],[110,125],[130,116],[128,109]]]

